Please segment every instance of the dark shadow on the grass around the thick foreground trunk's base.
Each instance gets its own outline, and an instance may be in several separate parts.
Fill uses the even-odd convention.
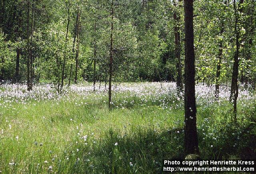
[[[200,158],[256,159],[256,124],[209,124],[208,130],[198,128]],[[65,166],[74,173],[161,173],[163,159],[184,159],[183,145],[181,127],[161,131],[136,127],[124,133],[110,128],[98,142],[76,145],[81,153]]]

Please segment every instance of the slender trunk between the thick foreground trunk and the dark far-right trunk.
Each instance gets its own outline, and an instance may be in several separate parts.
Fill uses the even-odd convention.
[[[224,32],[224,21],[221,21],[221,28],[220,28],[220,36],[222,36]],[[217,58],[217,72],[216,72],[216,84],[215,84],[215,100],[219,100],[219,90],[220,90],[220,64],[222,60],[222,44],[223,40],[220,40],[219,42],[219,52],[218,52],[218,58]]]

